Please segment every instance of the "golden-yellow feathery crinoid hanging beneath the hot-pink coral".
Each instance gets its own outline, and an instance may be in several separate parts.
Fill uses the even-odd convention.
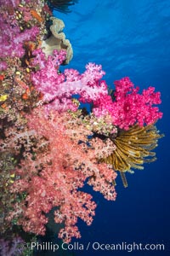
[[[125,172],[132,169],[144,169],[144,163],[156,160],[156,153],[151,151],[157,146],[157,140],[163,137],[155,125],[140,127],[133,125],[128,131],[118,131],[117,136],[111,138],[116,149],[102,162],[113,166],[115,171],[121,173],[122,182],[127,187]]]

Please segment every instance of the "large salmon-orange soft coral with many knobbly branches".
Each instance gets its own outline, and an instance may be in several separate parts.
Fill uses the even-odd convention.
[[[69,242],[72,236],[80,237],[77,219],[82,218],[91,224],[96,207],[92,196],[79,189],[88,181],[107,200],[115,200],[112,182],[116,173],[106,164],[97,163],[92,148],[84,149],[82,144],[78,144],[78,137],[73,139],[71,127],[69,131],[66,128],[66,123],[70,125],[69,119],[64,120],[56,111],[47,118],[44,110],[37,108],[28,116],[28,120],[29,128],[37,134],[39,144],[34,148],[34,156],[27,153],[26,159],[15,170],[20,179],[14,182],[11,192],[25,191],[26,204],[20,204],[20,209],[16,205],[18,210],[11,212],[8,220],[17,217],[18,224],[26,232],[44,235],[48,222],[45,213],[58,207],[55,221],[65,224],[59,237]],[[80,131],[81,124],[77,123],[77,126]],[[18,216],[16,212],[19,212]]]

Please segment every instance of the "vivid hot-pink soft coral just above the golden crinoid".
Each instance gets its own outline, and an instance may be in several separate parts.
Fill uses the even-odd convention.
[[[161,119],[159,108],[153,106],[161,103],[161,94],[155,92],[154,87],[149,87],[139,94],[139,87],[134,88],[129,78],[120,79],[115,85],[115,100],[112,102],[111,96],[101,95],[94,102],[94,114],[111,114],[113,124],[125,130],[136,123],[144,126]]]

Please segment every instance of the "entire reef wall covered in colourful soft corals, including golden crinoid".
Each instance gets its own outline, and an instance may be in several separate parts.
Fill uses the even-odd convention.
[[[84,184],[115,201],[117,174],[126,187],[126,172],[156,160],[160,92],[139,94],[129,78],[111,91],[94,63],[84,73],[59,71],[73,51],[51,10],[67,13],[74,2],[0,0],[0,222],[8,255],[23,234],[45,235],[54,208],[59,238],[81,237],[78,218],[92,224],[96,208]]]

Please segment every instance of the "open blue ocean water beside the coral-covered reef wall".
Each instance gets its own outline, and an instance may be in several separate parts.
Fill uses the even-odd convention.
[[[74,254],[170,255],[170,1],[79,0],[70,14],[54,11],[54,15],[64,20],[64,32],[74,51],[68,68],[83,72],[93,61],[102,65],[104,79],[111,86],[128,76],[141,89],[151,85],[161,91],[163,118],[157,127],[165,134],[156,148],[156,162],[127,174],[127,189],[117,178],[115,202],[90,190],[98,203],[96,216],[91,226],[79,223],[82,238],[74,241],[84,249]],[[165,250],[95,250],[94,242],[163,243]]]

